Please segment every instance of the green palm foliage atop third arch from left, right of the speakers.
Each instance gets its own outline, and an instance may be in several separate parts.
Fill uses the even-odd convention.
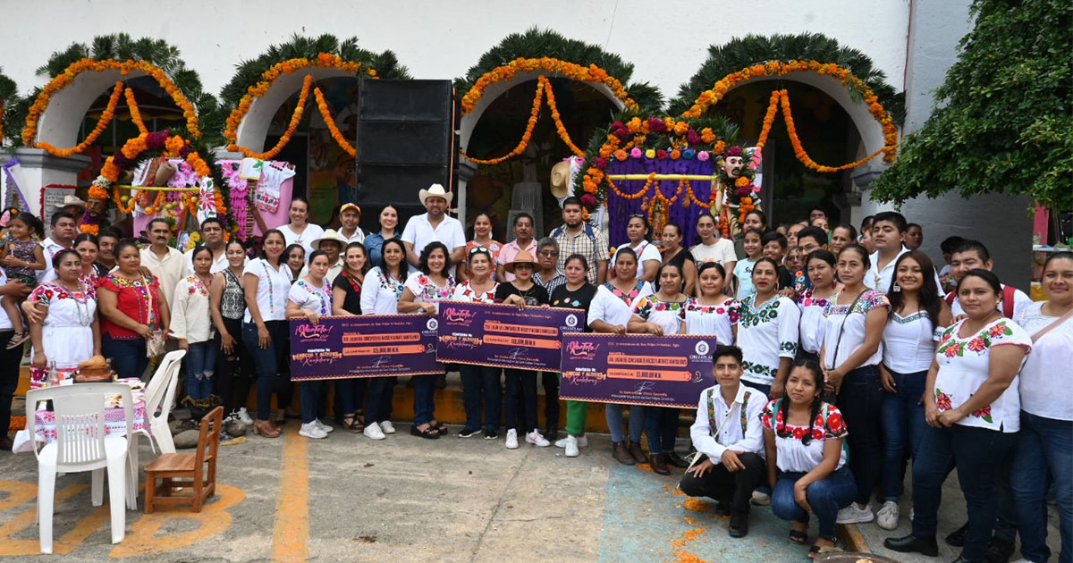
[[[659,113],[663,106],[663,94],[648,83],[630,84],[633,76],[633,63],[622,60],[622,57],[603,50],[598,45],[567,39],[549,29],[529,28],[525,33],[511,33],[498,45],[481,56],[475,65],[466,72],[466,76],[455,78],[455,90],[458,95],[465,94],[476,80],[486,73],[502,66],[515,59],[539,59],[549,57],[573,62],[583,66],[596,64],[614,76],[630,94],[630,98],[641,106],[644,113]]]

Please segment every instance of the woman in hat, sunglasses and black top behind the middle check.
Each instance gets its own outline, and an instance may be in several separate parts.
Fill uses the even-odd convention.
[[[503,305],[514,305],[518,309],[526,307],[547,307],[547,291],[533,283],[532,275],[536,269],[536,261],[523,250],[514,256],[514,262],[503,266],[503,270],[514,275],[514,279],[499,284],[496,290],[496,300]],[[518,447],[518,399],[523,401],[526,431],[526,443],[538,447],[550,444],[540,433],[536,423],[536,372],[532,370],[506,369],[506,441],[508,449]]]

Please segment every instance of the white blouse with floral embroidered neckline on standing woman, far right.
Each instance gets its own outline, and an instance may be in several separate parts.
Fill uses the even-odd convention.
[[[994,346],[1021,346],[1025,357],[1032,351],[1032,338],[1028,331],[1009,318],[998,318],[979,332],[961,337],[959,332],[964,325],[964,320],[954,323],[939,337],[939,349],[936,351],[939,373],[932,389],[939,412],[957,409],[987,381]],[[1018,383],[1018,376],[1014,376],[995,402],[968,414],[957,424],[1006,433],[1020,430]]]

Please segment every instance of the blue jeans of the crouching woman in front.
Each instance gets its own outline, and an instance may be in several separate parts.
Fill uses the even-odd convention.
[[[771,513],[775,516],[792,522],[808,523],[809,514],[794,500],[794,484],[804,476],[804,473],[779,472],[775,491],[771,493]],[[849,506],[856,493],[857,486],[847,465],[842,465],[805,489],[808,504],[820,519],[821,537],[828,539],[835,537],[838,509]]]

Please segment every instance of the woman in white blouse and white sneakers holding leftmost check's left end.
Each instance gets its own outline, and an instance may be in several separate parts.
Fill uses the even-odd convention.
[[[323,250],[309,254],[309,275],[291,286],[286,295],[286,316],[307,318],[317,324],[322,316],[332,314],[332,285],[324,276],[328,272],[328,255]],[[304,381],[299,392],[302,401],[302,429],[298,435],[306,438],[327,438],[335,430],[317,418],[320,412],[321,387],[323,381]]]

